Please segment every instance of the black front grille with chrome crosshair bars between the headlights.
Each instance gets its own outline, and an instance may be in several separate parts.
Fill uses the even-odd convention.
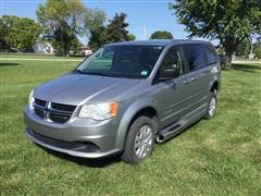
[[[76,108],[76,106],[48,102],[41,99],[35,99],[33,106],[36,115],[46,121],[58,123],[67,122]]]

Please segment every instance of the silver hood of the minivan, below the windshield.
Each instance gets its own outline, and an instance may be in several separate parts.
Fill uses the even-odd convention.
[[[139,79],[67,74],[37,87],[34,97],[73,106],[111,101],[138,82]]]

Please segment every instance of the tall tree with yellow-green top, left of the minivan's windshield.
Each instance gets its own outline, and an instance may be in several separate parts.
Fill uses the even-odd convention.
[[[84,34],[85,8],[80,0],[47,0],[38,7],[36,14],[42,37],[67,56],[71,45]]]

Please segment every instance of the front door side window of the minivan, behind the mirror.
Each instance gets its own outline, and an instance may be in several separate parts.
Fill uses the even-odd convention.
[[[165,54],[161,66],[160,72],[175,71],[178,75],[183,74],[184,63],[182,60],[181,51],[177,47],[171,48],[167,53]]]

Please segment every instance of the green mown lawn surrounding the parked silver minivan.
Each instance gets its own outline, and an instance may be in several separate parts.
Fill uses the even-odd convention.
[[[0,57],[1,58],[1,57]],[[25,137],[29,91],[76,62],[0,61],[1,195],[261,195],[261,64],[222,73],[219,111],[151,158],[74,159]]]

